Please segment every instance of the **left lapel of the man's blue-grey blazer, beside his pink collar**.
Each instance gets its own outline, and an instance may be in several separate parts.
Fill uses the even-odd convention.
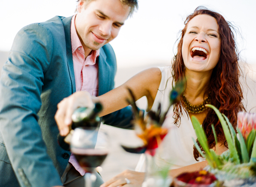
[[[67,63],[68,63],[68,71],[71,79],[72,93],[76,92],[76,81],[74,74],[74,65],[73,65],[73,54],[72,54],[72,46],[71,46],[71,17],[66,17],[62,19],[65,38],[66,38],[66,52],[67,52]]]

